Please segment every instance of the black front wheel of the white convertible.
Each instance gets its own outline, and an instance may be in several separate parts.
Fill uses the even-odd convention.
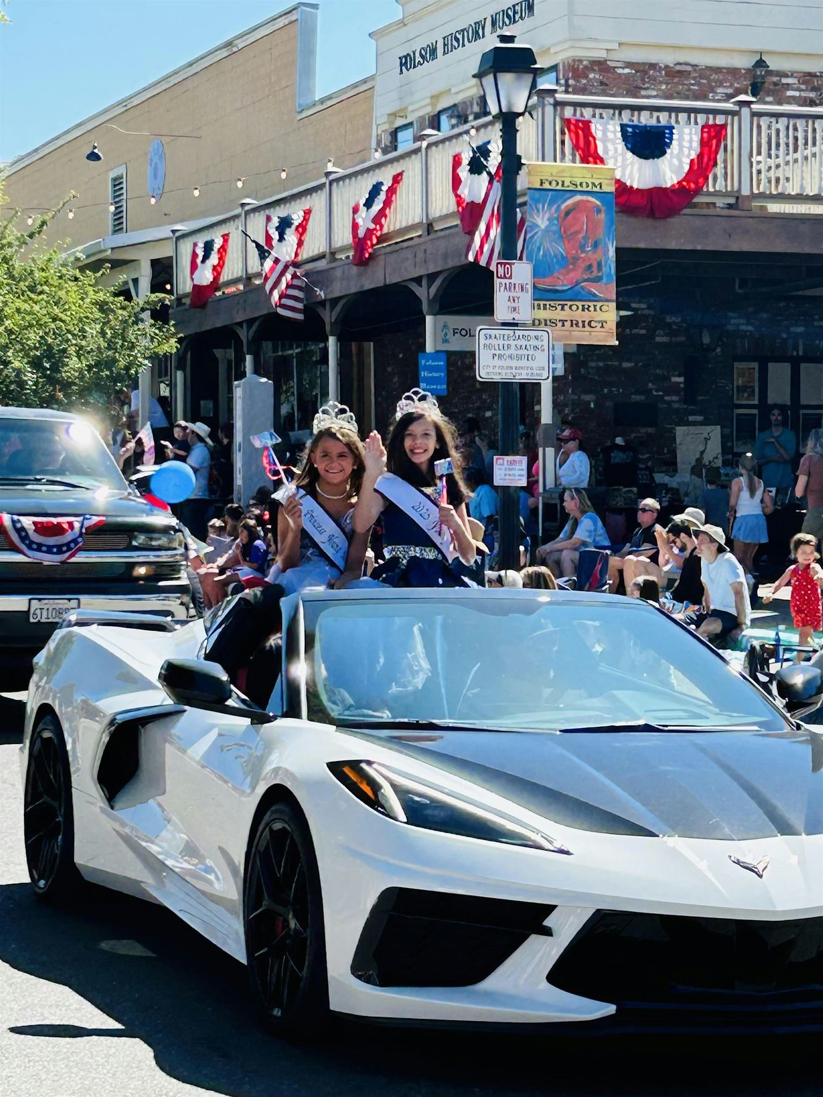
[[[249,852],[246,957],[266,1025],[312,1040],[328,1024],[320,880],[305,819],[290,804],[269,808]]]

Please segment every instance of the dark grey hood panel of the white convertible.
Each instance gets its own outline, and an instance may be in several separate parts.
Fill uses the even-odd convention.
[[[814,731],[340,731],[582,830],[726,840],[823,833],[823,735]]]

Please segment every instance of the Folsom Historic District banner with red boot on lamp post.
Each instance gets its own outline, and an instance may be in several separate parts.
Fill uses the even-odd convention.
[[[538,327],[560,343],[617,343],[613,168],[529,165],[526,258]]]

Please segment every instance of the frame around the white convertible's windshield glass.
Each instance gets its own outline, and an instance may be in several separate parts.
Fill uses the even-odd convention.
[[[362,593],[365,593],[365,591],[362,591],[362,592],[359,592],[359,593],[362,595]],[[388,593],[388,591],[386,591],[386,593]],[[390,608],[388,606],[386,606],[386,610],[385,610],[386,615],[390,615],[390,617],[392,615],[392,609],[394,609],[394,611],[396,611],[396,613],[399,614],[399,615],[407,615],[407,613],[412,610],[412,604],[404,606],[403,603],[409,601],[408,595],[410,595],[412,591],[402,591],[402,592],[398,591],[398,592],[392,592],[392,593],[401,595],[401,597],[392,598],[391,595],[390,595],[390,597],[387,599],[385,599],[385,601],[392,601],[393,602],[393,607],[392,608]],[[342,598],[340,597],[341,595],[343,596]],[[318,592],[318,596],[319,596],[319,592]],[[305,709],[304,709],[304,711],[306,712],[307,719],[309,721],[314,721],[314,722],[317,722],[317,723],[332,724],[335,726],[339,726],[340,728],[345,728],[346,726],[352,726],[352,727],[359,726],[359,727],[362,727],[362,726],[364,726],[364,723],[369,723],[369,726],[373,727],[375,731],[380,731],[381,727],[385,727],[386,730],[388,730],[393,723],[396,725],[397,722],[398,722],[397,716],[395,714],[393,714],[392,716],[383,716],[381,719],[381,716],[377,715],[377,714],[374,714],[374,715],[371,715],[371,714],[369,714],[369,715],[361,715],[361,714],[354,714],[354,713],[352,713],[352,715],[350,717],[347,717],[347,716],[343,716],[343,715],[340,715],[338,713],[335,713],[335,712],[330,711],[326,706],[326,704],[324,702],[324,699],[323,699],[323,695],[322,695],[322,692],[318,689],[317,683],[314,680],[314,675],[315,675],[315,647],[316,647],[316,644],[317,644],[317,632],[318,632],[320,617],[323,614],[325,614],[328,610],[334,610],[335,606],[336,604],[339,606],[341,602],[343,602],[343,603],[346,603],[348,606],[357,606],[358,603],[361,604],[361,606],[368,606],[369,601],[371,601],[371,599],[361,599],[361,598],[359,598],[357,596],[352,597],[351,595],[349,595],[348,598],[347,598],[347,597],[345,597],[346,596],[345,591],[335,592],[336,597],[328,598],[328,599],[324,599],[323,597],[318,597],[318,596],[311,597],[309,599],[305,599],[304,602],[303,602],[303,608],[304,608],[304,646],[303,646],[303,651],[301,652],[300,659],[301,659],[302,668],[303,668],[302,677],[303,677],[304,689],[305,689]],[[403,596],[405,596],[405,597],[403,597]],[[709,644],[702,637],[698,636],[692,630],[688,629],[685,624],[683,624],[681,622],[676,621],[675,619],[673,619],[669,614],[665,613],[663,610],[657,609],[657,608],[655,608],[655,607],[653,607],[651,604],[644,603],[642,601],[638,601],[638,600],[633,600],[633,599],[627,599],[627,598],[622,598],[622,597],[617,597],[617,596],[613,596],[613,595],[602,596],[602,595],[588,595],[588,593],[568,593],[568,592],[560,593],[560,592],[525,591],[525,590],[523,591],[520,591],[520,590],[517,590],[517,591],[506,591],[506,592],[504,592],[504,591],[497,591],[497,590],[494,590],[494,591],[488,591],[488,590],[461,591],[460,599],[455,599],[452,593],[447,593],[444,591],[433,591],[433,590],[432,591],[428,591],[428,590],[426,590],[426,591],[424,591],[424,590],[415,591],[414,596],[416,596],[416,597],[413,597],[410,599],[410,601],[414,604],[421,604],[421,606],[426,604],[426,603],[429,603],[429,602],[433,602],[435,604],[441,604],[443,602],[443,600],[448,599],[448,598],[451,598],[452,600],[460,601],[460,602],[466,602],[470,599],[473,600],[473,599],[476,599],[476,598],[483,599],[484,602],[486,602],[486,600],[493,599],[494,600],[494,607],[495,607],[495,614],[494,615],[500,617],[500,618],[504,618],[504,617],[508,615],[509,612],[516,612],[516,613],[517,612],[521,612],[522,613],[523,611],[526,611],[526,607],[523,606],[523,599],[526,599],[530,603],[546,603],[546,602],[551,603],[551,602],[556,602],[559,606],[564,606],[564,604],[568,606],[568,604],[572,604],[572,603],[576,602],[578,606],[584,606],[585,604],[586,608],[587,608],[587,610],[589,610],[591,612],[596,612],[596,613],[598,613],[600,615],[606,615],[606,614],[609,614],[611,612],[615,612],[615,610],[611,609],[612,606],[615,607],[615,609],[622,609],[624,612],[634,612],[634,613],[645,612],[645,613],[649,613],[649,614],[651,614],[651,613],[661,614],[662,618],[658,618],[658,621],[665,621],[667,627],[678,626],[680,630],[683,630],[683,633],[685,635],[683,636],[683,640],[679,641],[680,643],[690,642],[690,643],[697,643],[697,644],[702,645],[702,651],[703,652],[706,652],[707,654],[711,653],[711,655],[715,659],[720,660],[724,672],[726,672],[730,676],[734,676],[736,679],[739,679],[739,686],[740,687],[742,687],[743,689],[746,689],[746,690],[754,690],[754,692],[757,694],[757,698],[758,698],[758,701],[760,702],[760,704],[763,704],[765,702],[766,710],[768,710],[770,712],[770,714],[776,717],[775,723],[779,725],[779,727],[775,727],[775,726],[767,727],[767,726],[765,726],[765,723],[763,723],[763,721],[765,721],[765,714],[764,714],[763,721],[760,723],[756,724],[756,725],[755,725],[754,719],[751,720],[751,721],[746,720],[745,722],[744,721],[737,721],[735,723],[729,723],[725,726],[722,724],[721,721],[718,721],[717,723],[712,723],[712,724],[708,724],[708,725],[700,725],[699,723],[695,723],[695,724],[683,723],[683,724],[670,724],[670,725],[668,725],[668,724],[666,724],[664,722],[663,726],[661,727],[661,731],[663,733],[668,733],[668,732],[677,733],[677,732],[679,732],[679,733],[688,734],[689,732],[701,733],[701,732],[709,732],[709,731],[717,731],[717,732],[728,731],[728,732],[734,732],[734,731],[741,731],[741,730],[743,730],[744,726],[747,728],[747,727],[749,727],[749,725],[754,725],[753,730],[768,731],[771,734],[776,734],[776,733],[779,733],[780,731],[796,731],[797,727],[798,727],[797,722],[791,717],[791,715],[780,705],[780,703],[774,697],[771,697],[758,683],[754,682],[741,669],[739,669],[737,667],[735,667],[732,664],[730,664],[717,648],[714,648],[711,644]],[[380,601],[383,602],[384,599],[380,598]],[[374,602],[372,602],[372,604],[374,604]],[[596,608],[596,606],[597,606],[597,608]],[[488,604],[486,604],[484,607],[484,609],[487,610],[488,609]],[[537,611],[537,610],[538,610],[538,606],[534,604],[534,611]],[[642,625],[641,625],[641,627],[642,627]],[[688,636],[688,641],[686,641],[686,636]],[[284,656],[286,656],[285,652],[284,652]],[[291,654],[289,654],[286,657],[289,658],[289,661],[291,661],[291,659],[292,659],[293,656]],[[720,706],[717,704],[717,702],[713,702],[713,706],[719,712],[723,711],[722,709],[720,709]],[[427,724],[428,725],[432,725],[432,724],[436,724],[438,722],[441,722],[443,724],[450,724],[450,725],[453,725],[454,723],[460,723],[460,721],[456,720],[456,719],[451,720],[448,716],[442,716],[439,720],[438,716],[436,714],[433,714],[433,713],[429,713],[429,712],[421,712],[420,713],[420,724],[421,725],[427,725]],[[640,723],[645,723],[646,725],[654,725],[654,724],[657,723],[657,721],[655,721],[653,719],[653,715],[651,715],[651,714],[642,717],[639,722]],[[613,727],[615,727],[616,731],[623,731],[627,734],[631,734],[631,732],[633,730],[631,725],[633,723],[635,723],[635,721],[621,720],[616,714],[616,720],[615,720],[615,723],[613,723]],[[488,719],[484,719],[483,721],[476,720],[476,721],[466,722],[466,730],[467,731],[472,731],[472,730],[487,731],[487,730],[493,730],[494,728],[495,731],[501,731],[501,732],[503,731],[506,731],[506,732],[520,731],[520,732],[529,733],[529,734],[539,734],[539,733],[543,733],[543,734],[568,734],[568,732],[572,731],[572,728],[570,728],[568,731],[564,731],[563,728],[554,728],[554,727],[551,727],[551,726],[544,726],[544,727],[540,727],[540,726],[538,726],[538,727],[534,727],[534,726],[522,726],[522,727],[519,727],[516,724],[506,725],[505,727],[503,727],[503,726],[500,726],[500,724],[501,724],[501,722],[499,720],[495,720],[494,717],[489,716]],[[414,730],[415,721],[414,720],[408,721],[407,722],[407,726],[408,726],[409,731]],[[604,730],[607,730],[608,726],[612,726],[612,725],[604,725]]]

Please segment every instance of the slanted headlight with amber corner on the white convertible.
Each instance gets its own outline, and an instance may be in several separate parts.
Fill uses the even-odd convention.
[[[357,799],[396,823],[442,830],[464,838],[527,846],[546,853],[568,853],[561,842],[518,819],[379,762],[337,761],[329,771]]]

